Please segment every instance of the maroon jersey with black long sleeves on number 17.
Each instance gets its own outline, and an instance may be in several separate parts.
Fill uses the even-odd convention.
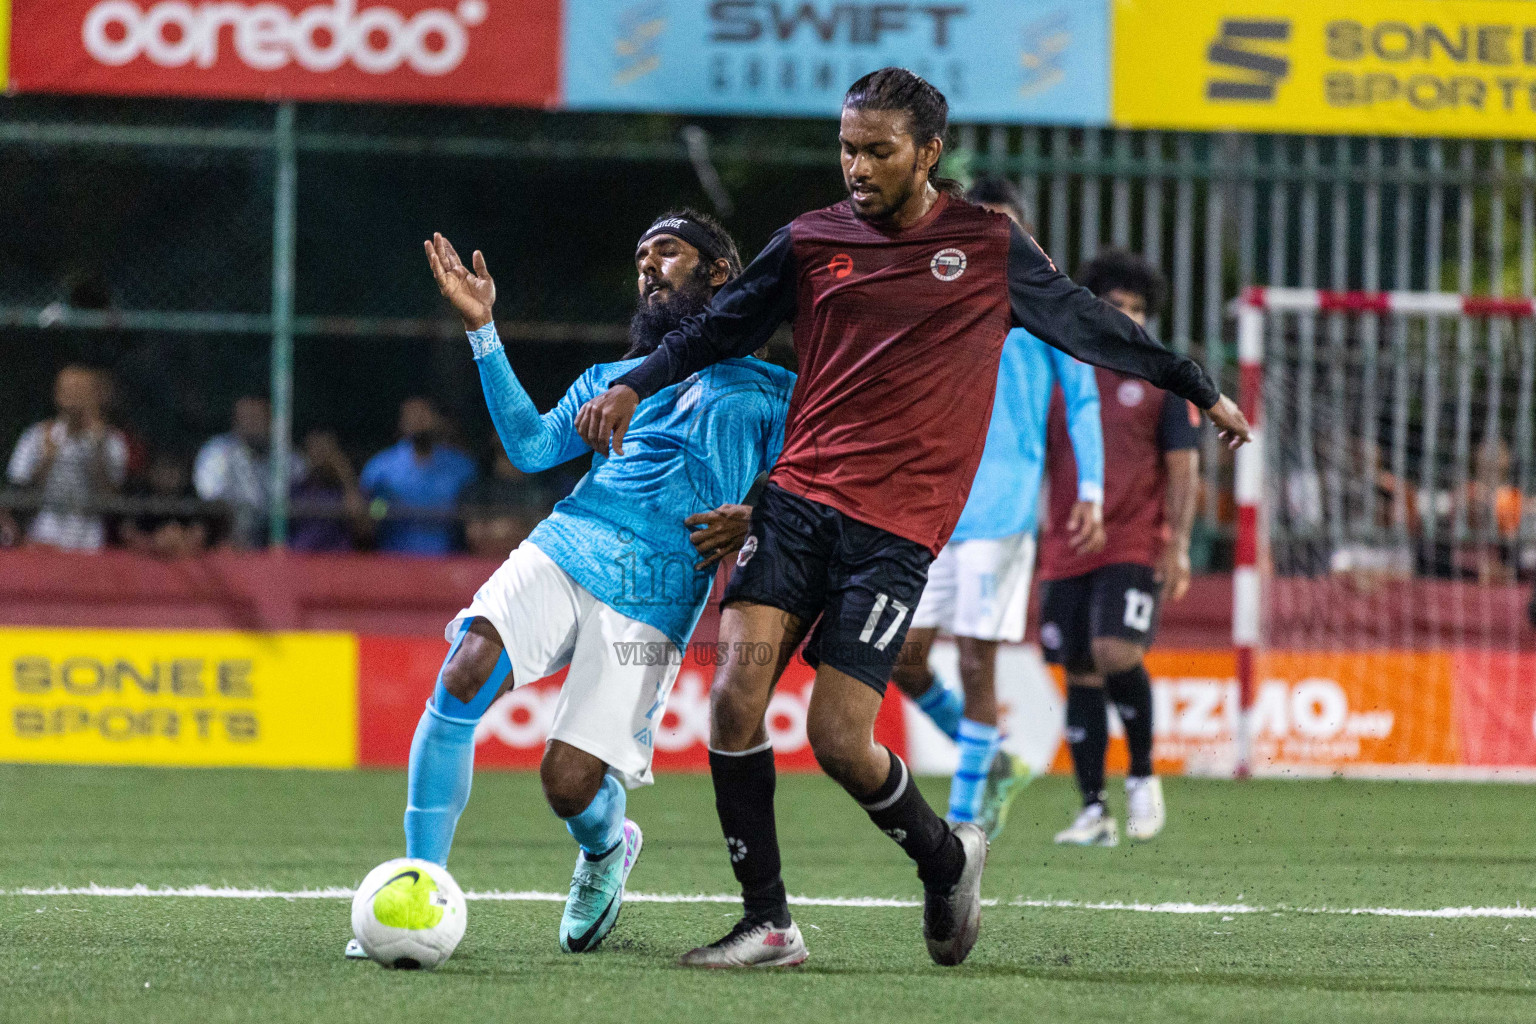
[[[846,201],[797,216],[614,384],[647,398],[754,352],[785,319],[799,381],[770,479],[934,553],[971,493],[1012,325],[1201,408],[1220,398],[1200,365],[1072,284],[1011,220],[948,195],[902,230]]]

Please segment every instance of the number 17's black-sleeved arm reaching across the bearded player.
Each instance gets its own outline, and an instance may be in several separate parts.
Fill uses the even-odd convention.
[[[780,227],[740,276],[716,292],[710,307],[684,319],[662,344],[607,393],[587,402],[576,430],[593,451],[624,454],[624,434],[641,399],[685,381],[707,365],[762,348],[779,324],[794,315],[794,247]]]

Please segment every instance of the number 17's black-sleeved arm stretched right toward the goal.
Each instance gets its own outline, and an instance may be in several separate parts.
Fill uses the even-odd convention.
[[[1118,370],[1206,410],[1230,447],[1252,441],[1236,402],[1217,390],[1198,362],[1164,348],[1135,321],[1055,269],[1034,238],[1011,229],[1008,295],[1014,322],[1083,362]]]

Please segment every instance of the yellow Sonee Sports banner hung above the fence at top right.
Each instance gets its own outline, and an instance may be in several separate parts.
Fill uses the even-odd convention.
[[[1536,137],[1536,3],[1115,0],[1126,127]]]

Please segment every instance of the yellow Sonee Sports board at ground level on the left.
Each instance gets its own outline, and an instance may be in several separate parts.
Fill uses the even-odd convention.
[[[0,629],[0,761],[352,768],[341,633]]]

